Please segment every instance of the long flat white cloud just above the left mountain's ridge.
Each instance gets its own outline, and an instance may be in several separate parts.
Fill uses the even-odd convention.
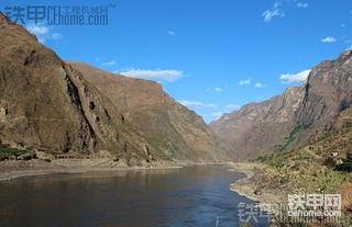
[[[116,71],[116,73],[121,73],[127,77],[140,78],[145,80],[154,80],[158,82],[174,82],[183,77],[185,77],[183,71],[179,70],[144,70],[144,69],[128,69],[123,71]]]

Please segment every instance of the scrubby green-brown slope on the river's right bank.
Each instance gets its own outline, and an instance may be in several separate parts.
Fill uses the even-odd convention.
[[[263,179],[256,182],[257,186],[277,195],[341,193],[343,218],[345,223],[352,223],[352,134],[349,127],[349,124],[343,124],[340,128],[324,130],[309,145],[299,149],[258,157],[256,161],[265,166]],[[297,132],[299,130],[294,130],[292,135]],[[294,137],[288,136],[287,141]]]

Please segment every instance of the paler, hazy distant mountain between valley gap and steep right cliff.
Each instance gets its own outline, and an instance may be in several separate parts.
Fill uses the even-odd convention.
[[[283,143],[295,125],[294,113],[302,98],[304,88],[288,88],[283,95],[246,104],[210,126],[235,158],[252,158]]]

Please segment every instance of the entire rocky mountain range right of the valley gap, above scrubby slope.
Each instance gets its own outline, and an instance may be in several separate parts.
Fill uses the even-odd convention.
[[[239,159],[306,145],[341,125],[352,103],[352,50],[311,70],[301,88],[252,103],[210,124]]]

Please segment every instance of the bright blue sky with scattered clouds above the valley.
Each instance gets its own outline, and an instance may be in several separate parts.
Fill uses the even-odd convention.
[[[111,3],[108,25],[26,26],[63,59],[161,82],[206,122],[299,86],[352,46],[351,0],[2,0],[0,9]]]

